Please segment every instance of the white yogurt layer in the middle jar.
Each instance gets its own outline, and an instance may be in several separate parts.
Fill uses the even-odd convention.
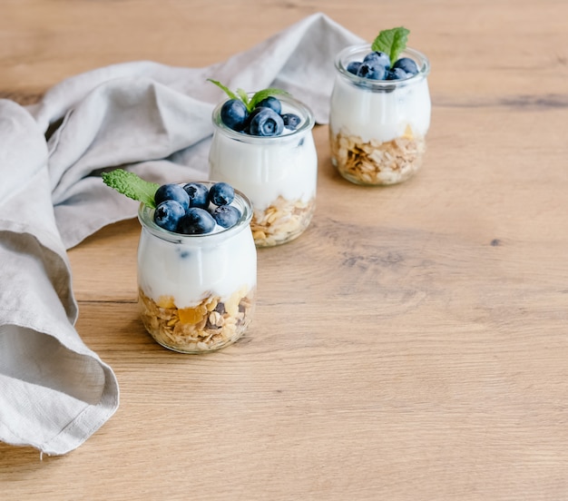
[[[283,100],[282,113],[301,116]],[[311,127],[277,137],[246,136],[218,127],[209,163],[210,179],[229,182],[250,198],[255,209],[266,209],[280,195],[305,202],[316,196],[318,155]]]

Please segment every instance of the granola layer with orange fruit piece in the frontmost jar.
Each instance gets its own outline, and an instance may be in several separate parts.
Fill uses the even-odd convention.
[[[157,302],[138,290],[142,323],[158,343],[183,353],[220,349],[239,339],[250,324],[255,290],[238,290],[229,300],[209,296],[177,308],[171,296]]]

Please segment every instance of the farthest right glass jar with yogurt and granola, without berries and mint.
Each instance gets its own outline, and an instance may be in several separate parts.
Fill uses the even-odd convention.
[[[430,126],[430,93],[424,54],[406,49],[418,73],[405,80],[369,80],[348,72],[362,61],[370,44],[354,45],[336,57],[336,79],[329,110],[331,162],[356,184],[406,181],[422,164]]]

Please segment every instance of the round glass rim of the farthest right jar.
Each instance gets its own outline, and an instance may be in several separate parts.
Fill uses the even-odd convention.
[[[350,83],[359,87],[377,91],[393,91],[397,87],[404,87],[423,80],[430,73],[430,62],[426,55],[410,47],[406,47],[400,54],[401,56],[410,57],[418,65],[418,73],[409,78],[403,80],[370,80],[348,72],[348,63],[354,61],[356,55],[363,55],[368,52],[372,52],[371,44],[349,45],[340,51],[335,59],[335,66],[339,74],[347,78]]]

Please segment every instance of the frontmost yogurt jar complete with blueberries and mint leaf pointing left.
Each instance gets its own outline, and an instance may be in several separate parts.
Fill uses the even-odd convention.
[[[240,339],[256,304],[250,200],[225,182],[159,185],[122,169],[103,182],[140,201],[138,305],[152,338],[191,354]]]

